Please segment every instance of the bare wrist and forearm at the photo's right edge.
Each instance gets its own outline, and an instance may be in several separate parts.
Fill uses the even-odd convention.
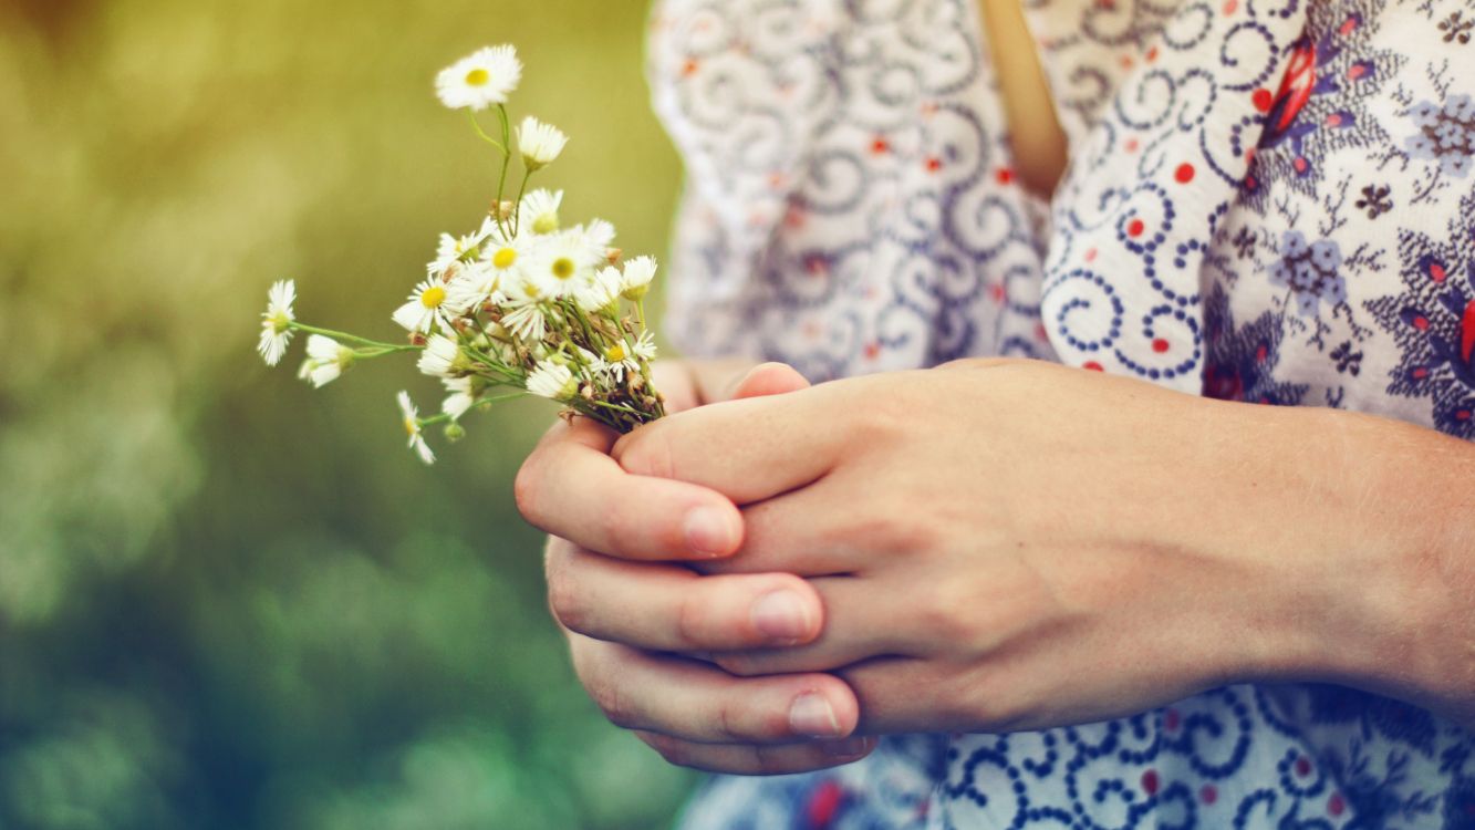
[[[1336,410],[1280,410],[1299,451],[1271,488],[1264,680],[1338,683],[1456,714],[1475,672],[1460,513],[1471,448],[1432,430]],[[1440,464],[1431,464],[1438,458]],[[1264,464],[1257,464],[1263,467]],[[1443,467],[1431,470],[1431,467]],[[1267,475],[1267,478],[1270,478]]]

